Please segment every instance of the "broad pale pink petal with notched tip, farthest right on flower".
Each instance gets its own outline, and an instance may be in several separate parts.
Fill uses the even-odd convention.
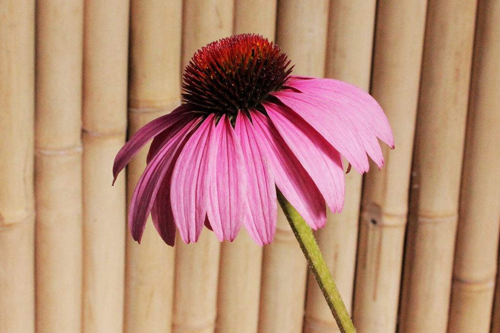
[[[287,86],[300,92],[273,93],[325,137],[358,172],[368,170],[366,153],[382,167],[377,136],[393,147],[387,118],[376,101],[351,84],[332,79],[291,77]]]

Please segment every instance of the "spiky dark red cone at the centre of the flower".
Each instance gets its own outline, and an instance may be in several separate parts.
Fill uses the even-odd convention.
[[[280,48],[256,34],[211,42],[185,68],[183,102],[205,112],[257,108],[286,82],[292,67]]]

